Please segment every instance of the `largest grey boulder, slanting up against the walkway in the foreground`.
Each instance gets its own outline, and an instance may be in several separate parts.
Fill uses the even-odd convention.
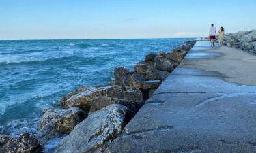
[[[62,139],[55,153],[104,152],[124,127],[127,108],[113,104],[94,112]]]

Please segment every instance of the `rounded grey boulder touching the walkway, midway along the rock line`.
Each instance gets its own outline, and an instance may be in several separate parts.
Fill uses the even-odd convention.
[[[154,66],[156,69],[160,71],[173,71],[173,65],[167,58],[163,58],[161,56],[157,56],[154,61]]]

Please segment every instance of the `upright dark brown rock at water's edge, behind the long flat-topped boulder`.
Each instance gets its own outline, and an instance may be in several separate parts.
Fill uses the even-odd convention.
[[[114,71],[115,75],[115,85],[122,86],[123,88],[127,88],[128,85],[128,77],[130,75],[130,72],[128,69],[125,69],[124,67],[117,67]]]

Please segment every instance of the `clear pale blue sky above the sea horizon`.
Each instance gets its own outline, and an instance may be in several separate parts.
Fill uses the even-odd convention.
[[[255,0],[0,0],[0,40],[205,37],[256,29]]]

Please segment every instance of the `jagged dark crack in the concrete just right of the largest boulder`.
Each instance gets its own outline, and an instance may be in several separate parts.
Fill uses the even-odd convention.
[[[170,125],[165,125],[165,126],[158,126],[155,128],[148,128],[148,129],[137,129],[134,131],[128,131],[127,129],[125,130],[126,135],[138,135],[140,133],[147,133],[147,132],[152,132],[152,131],[165,131],[165,130],[169,130],[169,129],[174,129],[174,126],[170,126]]]

